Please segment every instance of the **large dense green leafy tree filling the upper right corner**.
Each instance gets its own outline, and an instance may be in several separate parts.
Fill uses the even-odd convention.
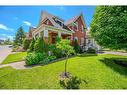
[[[127,49],[127,6],[99,6],[90,33],[103,47]]]

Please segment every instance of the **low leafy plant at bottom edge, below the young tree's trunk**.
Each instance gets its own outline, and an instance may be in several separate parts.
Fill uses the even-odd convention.
[[[80,89],[80,84],[82,82],[85,82],[88,84],[85,80],[82,80],[76,76],[71,76],[70,78],[65,78],[64,80],[60,80],[60,86],[64,89]]]

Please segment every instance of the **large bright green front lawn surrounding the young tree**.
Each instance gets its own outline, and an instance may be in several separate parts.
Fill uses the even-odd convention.
[[[127,68],[114,64],[112,58],[127,57],[77,56],[68,60],[67,70],[82,80],[80,89],[127,89]],[[59,84],[59,75],[64,71],[64,62],[65,60],[25,70],[0,68],[0,88],[63,89]]]

